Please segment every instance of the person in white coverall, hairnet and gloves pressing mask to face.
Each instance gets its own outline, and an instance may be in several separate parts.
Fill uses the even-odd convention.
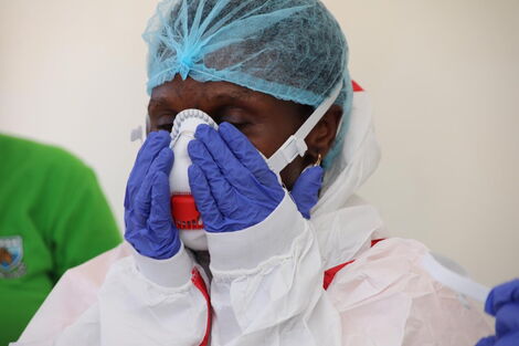
[[[480,306],[431,274],[428,250],[389,238],[354,195],[379,147],[320,2],[162,1],[145,39],[151,132],[127,185],[129,244],[70,271],[14,345],[460,346],[492,334]]]

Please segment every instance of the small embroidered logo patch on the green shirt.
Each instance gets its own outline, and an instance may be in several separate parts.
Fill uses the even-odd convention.
[[[25,274],[23,241],[20,235],[0,237],[0,277],[14,279]]]

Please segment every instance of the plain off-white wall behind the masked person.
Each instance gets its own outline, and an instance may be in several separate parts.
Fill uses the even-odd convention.
[[[519,276],[519,1],[327,0],[383,149],[362,189],[396,235],[479,281]],[[156,1],[0,0],[0,130],[61,145],[120,226]],[[1,158],[0,158],[1,164]]]

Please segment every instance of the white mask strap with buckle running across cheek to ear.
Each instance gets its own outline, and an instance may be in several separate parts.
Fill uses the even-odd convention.
[[[290,164],[298,155],[304,156],[308,149],[305,138],[314,129],[314,127],[319,123],[322,116],[328,112],[331,105],[339,97],[340,91],[342,88],[342,82],[338,83],[337,86],[331,92],[330,96],[326,98],[316,111],[306,119],[306,122],[299,127],[299,129],[288,137],[288,139],[276,150],[276,153],[268,158],[267,164],[271,169],[278,174]]]

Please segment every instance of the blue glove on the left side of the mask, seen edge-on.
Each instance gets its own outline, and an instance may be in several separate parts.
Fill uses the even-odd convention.
[[[137,252],[157,260],[169,259],[180,250],[179,231],[170,210],[170,140],[165,130],[149,134],[126,186],[125,238]]]

